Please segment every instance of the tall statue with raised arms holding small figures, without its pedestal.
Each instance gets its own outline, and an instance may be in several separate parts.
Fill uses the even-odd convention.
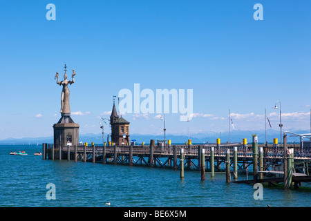
[[[70,92],[69,92],[69,89],[68,89],[68,84],[73,84],[75,83],[75,70],[73,70],[73,75],[71,75],[71,77],[73,78],[72,81],[69,81],[67,79],[67,74],[66,74],[66,64],[65,64],[65,74],[64,74],[64,81],[60,81],[58,80],[58,73],[56,72],[56,75],[55,75],[55,78],[54,79],[57,79],[57,82],[56,84],[59,84],[59,86],[63,86],[63,90],[62,90],[62,97],[61,97],[61,111],[59,113],[62,113],[62,114],[69,114],[70,115],[70,105],[69,105],[69,95],[70,95]]]

